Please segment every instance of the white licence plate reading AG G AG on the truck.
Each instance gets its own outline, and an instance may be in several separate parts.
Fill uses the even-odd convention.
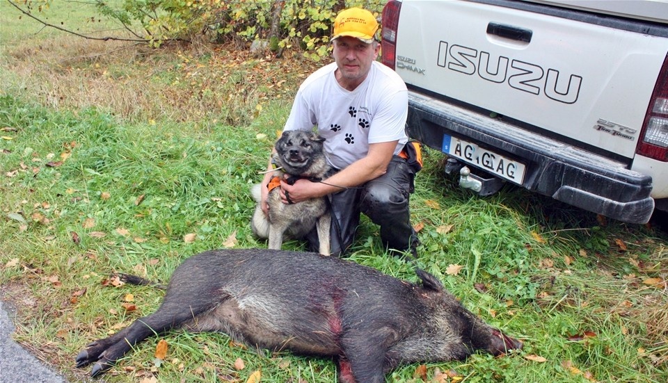
[[[472,142],[443,135],[443,153],[461,159],[470,165],[521,185],[524,181],[525,165],[511,158],[479,147]]]

